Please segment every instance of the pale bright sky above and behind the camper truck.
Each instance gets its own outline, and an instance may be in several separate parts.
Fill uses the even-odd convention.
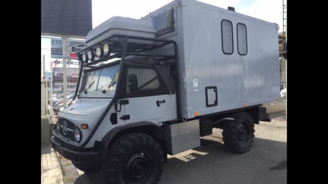
[[[279,25],[282,32],[282,0],[198,0],[203,3],[227,9],[234,7],[235,11]],[[102,22],[112,16],[122,16],[139,19],[147,15],[172,0],[92,0],[92,28],[97,27]],[[54,58],[50,56],[50,39],[41,39],[41,62],[42,55],[46,58],[46,71],[50,71],[50,61]],[[58,59],[61,60],[61,59]],[[61,65],[57,65],[61,66]],[[70,67],[77,67],[71,65]]]

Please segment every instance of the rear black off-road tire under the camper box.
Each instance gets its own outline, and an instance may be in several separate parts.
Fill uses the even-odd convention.
[[[247,112],[239,111],[232,114],[235,121],[226,121],[223,125],[223,142],[234,153],[245,153],[254,142],[254,123]]]

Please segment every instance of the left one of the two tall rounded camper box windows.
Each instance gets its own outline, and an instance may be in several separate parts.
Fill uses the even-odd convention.
[[[232,54],[234,52],[232,23],[230,20],[221,21],[221,37],[222,51],[224,54]]]

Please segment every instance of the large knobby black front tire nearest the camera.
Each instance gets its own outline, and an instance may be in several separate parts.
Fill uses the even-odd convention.
[[[163,151],[153,137],[130,133],[109,147],[101,175],[106,184],[154,184],[161,179],[163,164]]]

